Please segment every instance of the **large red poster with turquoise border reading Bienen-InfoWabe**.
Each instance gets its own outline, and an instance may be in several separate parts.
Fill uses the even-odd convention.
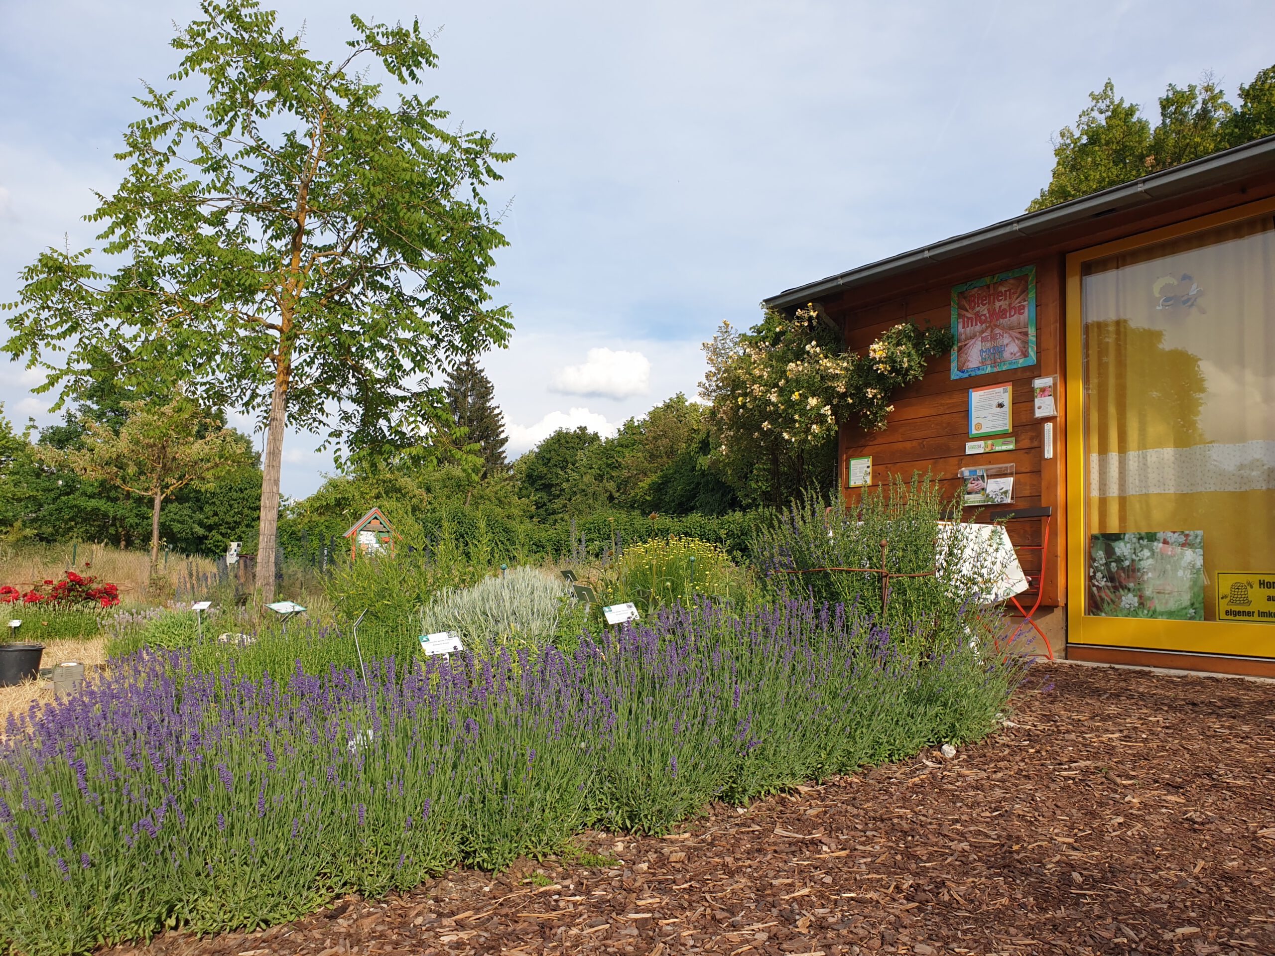
[[[952,379],[1035,365],[1035,266],[952,287]]]

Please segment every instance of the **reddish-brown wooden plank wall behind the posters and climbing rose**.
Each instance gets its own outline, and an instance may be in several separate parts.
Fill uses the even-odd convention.
[[[978,279],[983,275],[1014,269],[1031,263],[993,263],[986,272],[956,279]],[[924,474],[932,469],[938,477],[945,496],[955,496],[960,481],[958,470],[982,465],[1014,463],[1014,503],[1021,507],[1051,505],[1054,509],[1049,548],[1046,565],[1044,597],[1042,603],[1066,603],[1065,520],[1065,419],[1063,396],[1063,259],[1048,256],[1037,261],[1037,365],[1014,368],[1009,372],[979,375],[972,379],[951,377],[951,358],[947,353],[931,359],[926,377],[900,391],[894,400],[894,412],[886,428],[864,432],[857,424],[845,424],[840,431],[840,481],[845,483],[845,465],[850,458],[872,456],[872,484],[889,482],[890,475],[910,479],[915,472]],[[932,288],[914,291],[898,298],[885,298],[875,305],[856,308],[850,293],[841,301],[826,302],[829,316],[841,322],[847,345],[856,351],[867,347],[901,321],[917,322],[922,328],[937,325],[951,328],[951,287],[943,282]],[[850,300],[850,301],[847,301]],[[1031,380],[1057,376],[1058,417],[1038,421],[1033,414]],[[1014,386],[1012,436],[1015,450],[966,455],[969,437],[969,389],[983,385],[1010,382]],[[1054,456],[1043,456],[1043,423],[1053,421]],[[844,489],[847,503],[858,501],[861,489]],[[997,506],[1003,507],[1003,506]],[[966,509],[966,520],[986,520],[992,509]],[[1016,546],[1039,546],[1043,524],[1040,521],[1015,521],[1010,524],[1011,539]],[[1021,551],[1020,560],[1029,575],[1040,570],[1039,551]]]

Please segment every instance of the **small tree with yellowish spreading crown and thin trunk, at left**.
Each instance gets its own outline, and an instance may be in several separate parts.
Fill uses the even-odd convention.
[[[193,486],[210,486],[245,463],[244,437],[178,395],[164,404],[127,402],[127,419],[113,431],[85,422],[80,446],[68,451],[46,447],[42,458],[82,478],[110,484],[150,502],[150,575],[159,563],[159,515],[164,500]]]

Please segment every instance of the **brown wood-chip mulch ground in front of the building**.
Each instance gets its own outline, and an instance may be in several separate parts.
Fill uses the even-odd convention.
[[[1040,665],[951,760],[581,844],[140,952],[1275,953],[1275,684]]]

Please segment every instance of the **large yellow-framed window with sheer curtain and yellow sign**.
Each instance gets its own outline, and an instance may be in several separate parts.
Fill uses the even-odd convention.
[[[1084,593],[1072,607],[1265,625],[1198,648],[1176,625],[1169,645],[1275,655],[1275,221],[1088,259],[1079,291]],[[1164,646],[1154,635],[1165,632],[1145,630],[1144,646]],[[1126,634],[1118,642],[1144,644]]]

